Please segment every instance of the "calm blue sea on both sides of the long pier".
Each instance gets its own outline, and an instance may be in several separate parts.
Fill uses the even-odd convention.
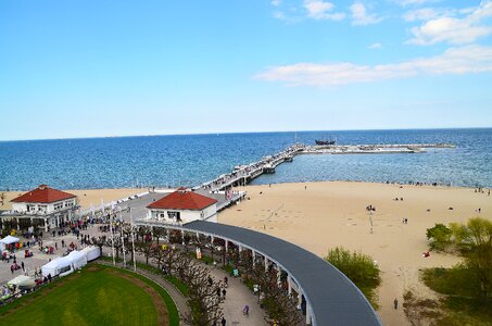
[[[194,186],[282,150],[313,143],[453,142],[420,154],[299,155],[254,184],[366,180],[492,187],[492,128],[220,134],[0,142],[0,189]]]

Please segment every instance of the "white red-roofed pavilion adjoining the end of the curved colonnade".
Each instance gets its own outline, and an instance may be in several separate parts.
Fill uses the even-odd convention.
[[[217,222],[217,201],[186,188],[179,188],[149,204],[147,209],[148,218],[163,223]]]

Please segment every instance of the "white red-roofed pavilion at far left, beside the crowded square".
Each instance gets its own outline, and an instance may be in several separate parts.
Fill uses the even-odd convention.
[[[10,217],[42,220],[45,230],[60,227],[62,222],[73,218],[78,209],[78,199],[75,195],[40,185],[38,188],[11,200],[12,211],[0,215],[0,218]]]

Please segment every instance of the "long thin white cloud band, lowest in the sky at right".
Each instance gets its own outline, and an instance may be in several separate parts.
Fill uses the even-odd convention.
[[[358,65],[340,62],[274,66],[256,75],[255,78],[280,82],[289,86],[329,87],[419,75],[457,75],[483,72],[492,72],[492,47],[466,46],[447,49],[440,55],[394,64]]]

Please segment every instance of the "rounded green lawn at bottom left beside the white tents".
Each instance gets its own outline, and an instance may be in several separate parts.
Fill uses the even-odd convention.
[[[179,317],[167,292],[149,279],[90,264],[0,308],[0,324],[178,325]]]

